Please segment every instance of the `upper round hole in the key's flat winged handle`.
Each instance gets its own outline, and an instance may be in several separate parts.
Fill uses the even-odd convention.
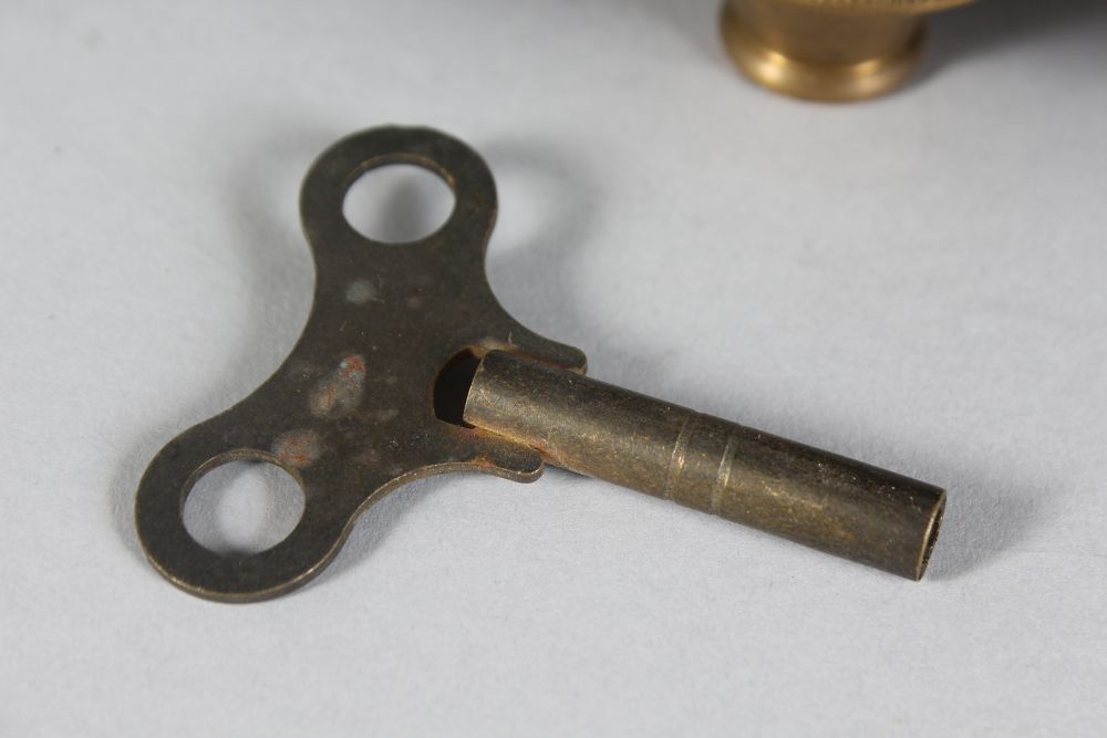
[[[346,190],[342,214],[365,238],[411,243],[434,233],[454,210],[454,190],[417,164],[385,164],[361,174]]]

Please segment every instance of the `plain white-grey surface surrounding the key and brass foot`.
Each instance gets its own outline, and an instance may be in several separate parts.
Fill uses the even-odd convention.
[[[848,106],[716,10],[4,3],[0,732],[1103,730],[1107,7],[943,15]],[[390,122],[483,153],[493,287],[593,376],[946,487],[928,578],[551,470],[396,492],[276,601],[167,584],[138,478],[288,353],[299,179]]]

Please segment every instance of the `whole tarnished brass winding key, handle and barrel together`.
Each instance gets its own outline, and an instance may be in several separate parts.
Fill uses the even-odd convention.
[[[454,190],[448,220],[411,243],[374,241],[342,212],[350,185],[416,164]],[[918,579],[942,490],[587,380],[583,354],[508,315],[484,272],[496,190],[480,157],[427,128],[350,136],[300,198],[315,297],[291,354],[261,387],[153,459],[135,520],[147,557],[194,594],[245,602],[317,575],[353,521],[397,486],[476,470],[531,481],[550,464]],[[277,545],[221,555],[196,542],[185,499],[205,472],[255,459],[289,471],[303,516]]]

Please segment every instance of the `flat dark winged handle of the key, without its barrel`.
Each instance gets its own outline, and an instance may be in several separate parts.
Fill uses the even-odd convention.
[[[425,167],[449,185],[455,205],[438,230],[384,243],[350,226],[342,210],[350,186],[389,164]],[[300,212],[315,291],[299,341],[251,395],[166,444],[138,486],[146,555],[177,586],[214,600],[263,600],[304,584],[334,558],[356,517],[404,482],[457,470],[538,478],[536,450],[436,415],[435,383],[455,357],[499,350],[584,370],[580,351],[527,330],[493,294],[484,259],[496,186],[456,138],[407,127],[349,136],[309,169]],[[277,545],[224,555],[193,539],[182,513],[204,474],[239,459],[286,469],[304,508]]]

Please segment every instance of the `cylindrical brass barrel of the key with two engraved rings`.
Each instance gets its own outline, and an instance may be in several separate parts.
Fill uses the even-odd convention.
[[[945,492],[523,356],[489,352],[465,422],[555,466],[918,580]]]

